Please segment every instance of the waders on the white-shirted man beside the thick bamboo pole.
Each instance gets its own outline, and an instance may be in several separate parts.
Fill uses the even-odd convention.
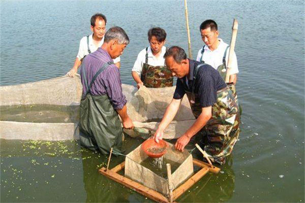
[[[200,58],[200,62],[203,62],[203,53],[204,53],[204,47],[205,45],[202,47],[202,50],[201,50],[201,58]],[[217,67],[217,71],[218,73],[220,74],[220,76],[224,79],[226,79],[226,72],[227,72],[227,65],[226,65],[226,55],[227,55],[227,51],[228,51],[228,48],[229,46],[227,46],[226,50],[225,50],[225,53],[224,53],[224,56],[223,56],[223,63]],[[230,88],[230,90],[232,91],[234,97],[235,97],[235,100],[236,100],[236,103],[238,105],[238,108],[239,108],[239,113],[241,115],[241,106],[239,105],[238,103],[238,98],[237,98],[237,93],[236,93],[236,87],[235,87],[235,84],[234,83],[227,83],[228,87]]]

